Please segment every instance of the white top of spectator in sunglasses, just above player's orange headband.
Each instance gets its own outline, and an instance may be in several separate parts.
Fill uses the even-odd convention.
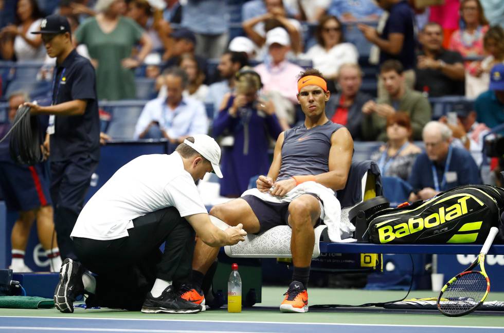
[[[338,72],[339,66],[346,63],[356,64],[359,54],[355,45],[351,43],[336,44],[329,51],[316,44],[300,58],[311,59],[313,67],[323,75],[333,76]]]

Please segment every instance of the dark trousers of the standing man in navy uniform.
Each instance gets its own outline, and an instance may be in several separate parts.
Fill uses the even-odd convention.
[[[89,181],[98,161],[82,156],[67,161],[50,163],[51,199],[54,205],[54,224],[61,257],[77,259],[70,233],[84,205]]]

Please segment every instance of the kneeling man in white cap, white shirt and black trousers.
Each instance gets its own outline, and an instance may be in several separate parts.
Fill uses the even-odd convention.
[[[191,273],[194,231],[212,247],[244,241],[242,225],[221,231],[211,223],[196,189],[207,172],[222,178],[220,157],[215,140],[194,135],[171,155],[143,155],[119,169],[77,219],[71,237],[82,265],[64,261],[56,307],[73,312],[74,300],[85,293],[87,306],[147,313],[204,310],[205,304],[180,298],[172,282]],[[96,279],[83,266],[97,273]]]

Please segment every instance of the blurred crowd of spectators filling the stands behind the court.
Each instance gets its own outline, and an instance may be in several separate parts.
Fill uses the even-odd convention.
[[[309,67],[327,80],[328,119],[348,128],[356,149],[359,141],[383,142],[369,158],[382,176],[409,186],[394,200],[501,184],[496,176],[481,179],[480,169],[488,164],[483,138],[504,124],[504,2],[440,3],[0,0],[0,107],[7,113],[26,95],[50,103],[55,60],[31,32],[56,13],[67,17],[71,41],[95,69],[98,100],[145,102],[133,118],[114,109],[112,121],[128,118],[134,130],[112,139],[179,144],[212,135],[223,151],[222,196],[238,197],[250,178],[266,174],[278,135],[303,126],[296,82]],[[100,122],[107,138],[106,108]],[[0,149],[2,169],[9,158],[5,143]],[[497,175],[502,158],[490,164],[495,172],[487,176]],[[4,198],[21,195],[22,202],[6,178]],[[21,216],[12,233],[14,270],[29,270],[24,239],[50,204],[9,207]],[[46,224],[38,221],[39,229]],[[55,245],[44,241],[51,256]]]

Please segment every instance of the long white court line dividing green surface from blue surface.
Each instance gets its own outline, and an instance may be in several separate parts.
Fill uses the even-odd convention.
[[[36,319],[84,319],[84,320],[146,320],[168,322],[199,322],[199,323],[243,323],[243,324],[279,324],[279,325],[335,325],[335,326],[384,326],[384,327],[436,327],[436,328],[484,328],[504,329],[503,326],[456,326],[456,325],[401,325],[401,324],[353,324],[353,323],[305,323],[305,322],[263,322],[263,321],[233,321],[233,320],[197,320],[197,319],[136,319],[136,318],[87,318],[87,317],[37,317],[37,316],[0,316],[0,318],[36,318]],[[201,333],[201,331],[198,331]]]

